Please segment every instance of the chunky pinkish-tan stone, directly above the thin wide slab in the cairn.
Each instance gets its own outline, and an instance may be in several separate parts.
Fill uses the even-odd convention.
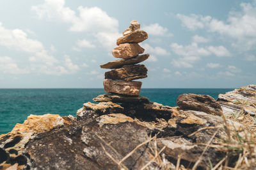
[[[145,50],[140,45],[134,43],[125,43],[119,46],[116,46],[112,50],[112,54],[116,58],[129,59],[131,57],[135,57],[140,53],[143,53]]]

